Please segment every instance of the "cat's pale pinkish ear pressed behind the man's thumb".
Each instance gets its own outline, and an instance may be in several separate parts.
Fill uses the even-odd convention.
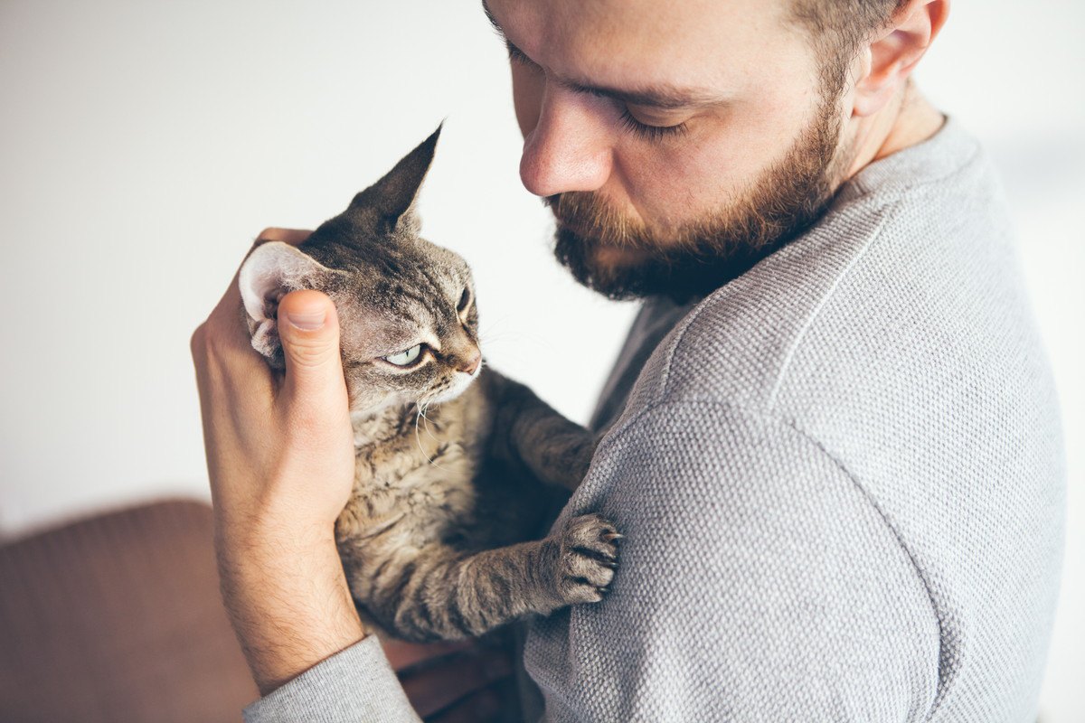
[[[316,288],[331,269],[281,241],[270,241],[253,249],[241,264],[238,286],[248,320],[253,348],[282,367],[277,311],[279,301],[290,292]]]

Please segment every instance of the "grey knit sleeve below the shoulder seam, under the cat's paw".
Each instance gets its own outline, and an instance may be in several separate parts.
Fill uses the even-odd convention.
[[[563,518],[586,512],[625,538],[601,604],[532,625],[546,720],[924,720],[940,648],[922,576],[861,480],[787,421],[650,408]]]

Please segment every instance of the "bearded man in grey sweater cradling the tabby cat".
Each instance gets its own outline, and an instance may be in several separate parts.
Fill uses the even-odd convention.
[[[991,167],[909,80],[947,0],[485,11],[558,258],[646,298],[556,521],[614,520],[621,565],[601,604],[528,623],[526,714],[1034,720],[1061,440]],[[283,299],[279,382],[238,304],[192,346],[265,695],[246,718],[417,720],[332,538],[354,463],[334,308]]]

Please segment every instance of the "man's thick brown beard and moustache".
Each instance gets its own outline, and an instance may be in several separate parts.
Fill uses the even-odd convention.
[[[831,202],[853,156],[851,149],[837,153],[838,98],[822,93],[810,126],[743,197],[665,237],[593,192],[547,197],[558,222],[554,256],[578,282],[613,299],[706,296],[795,238]]]

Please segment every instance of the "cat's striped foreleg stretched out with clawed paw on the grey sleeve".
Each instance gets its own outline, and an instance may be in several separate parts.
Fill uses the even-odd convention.
[[[523,615],[601,601],[621,537],[599,515],[584,515],[545,540],[476,554],[430,545],[372,590],[367,607],[408,640],[482,635]]]

